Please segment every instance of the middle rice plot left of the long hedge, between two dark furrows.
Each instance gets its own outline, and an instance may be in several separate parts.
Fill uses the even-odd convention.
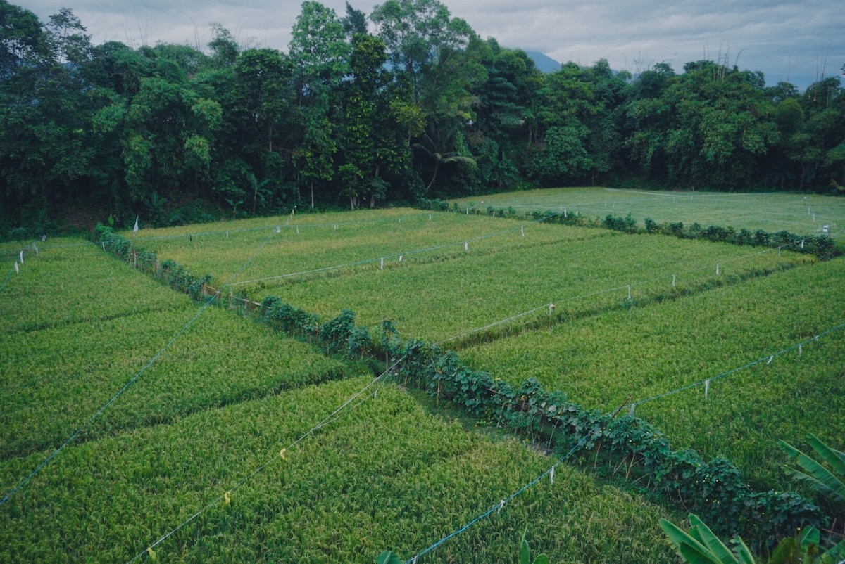
[[[75,323],[3,339],[0,459],[60,445],[195,315],[194,306],[184,304],[176,312]],[[346,374],[346,367],[307,344],[280,339],[270,328],[209,308],[78,440],[158,425]]]

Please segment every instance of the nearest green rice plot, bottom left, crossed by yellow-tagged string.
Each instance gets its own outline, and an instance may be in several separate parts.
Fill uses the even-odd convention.
[[[550,466],[520,442],[491,440],[428,415],[393,385],[331,426],[281,447],[323,419],[368,377],[302,388],[68,448],[27,491],[0,507],[0,561],[343,561],[381,550],[411,558]],[[7,482],[42,456],[0,464]],[[527,528],[554,561],[664,562],[667,515],[560,466],[419,561],[515,561]]]

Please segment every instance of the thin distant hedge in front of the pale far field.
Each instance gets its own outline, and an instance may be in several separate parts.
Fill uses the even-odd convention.
[[[439,211],[461,212],[457,203],[450,209],[449,203],[442,200],[422,200],[419,207],[423,209],[436,209]],[[494,209],[488,206],[486,212],[475,207],[467,207],[467,214],[484,214],[493,217],[505,217],[516,220],[535,220],[546,223],[559,223],[563,225],[577,225],[580,227],[602,227],[604,229],[622,231],[624,233],[647,233],[649,235],[671,235],[680,239],[706,239],[708,241],[725,242],[739,246],[749,247],[788,247],[793,252],[804,252],[813,254],[818,258],[831,258],[837,254],[834,241],[829,236],[795,235],[787,230],[770,232],[758,229],[750,231],[747,229],[735,229],[733,227],[719,227],[711,225],[702,227],[698,223],[685,226],[683,222],[657,223],[651,218],[646,218],[644,227],[627,214],[624,217],[608,214],[603,220],[589,218],[586,215],[564,213],[553,211],[534,211],[530,214],[523,214],[514,208]]]

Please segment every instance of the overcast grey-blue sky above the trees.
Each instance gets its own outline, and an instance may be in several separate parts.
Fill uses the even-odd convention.
[[[287,50],[300,12],[296,0],[26,0],[11,3],[42,22],[71,8],[95,45],[163,41],[207,50],[210,23],[232,31],[242,45]],[[350,2],[365,14],[373,0]],[[608,59],[631,73],[668,62],[681,72],[702,58],[759,70],[766,83],[788,80],[801,89],[822,76],[841,76],[845,64],[842,0],[446,0],[482,38],[539,51],[559,61],[591,65]],[[339,16],[344,0],[325,0]]]

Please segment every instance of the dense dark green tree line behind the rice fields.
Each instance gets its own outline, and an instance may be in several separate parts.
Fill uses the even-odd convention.
[[[439,0],[339,16],[308,0],[287,52],[211,24],[185,45],[92,45],[63,8],[0,0],[0,224],[77,206],[124,225],[589,184],[845,190],[845,91],[697,61],[543,74]],[[843,67],[845,70],[845,67]]]

